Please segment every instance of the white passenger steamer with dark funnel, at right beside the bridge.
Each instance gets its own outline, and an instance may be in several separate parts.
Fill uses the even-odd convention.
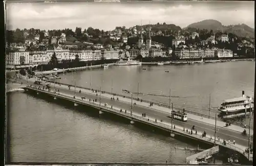
[[[253,99],[243,91],[241,97],[224,100],[218,110],[221,114],[239,114],[249,112],[250,107],[253,109]]]

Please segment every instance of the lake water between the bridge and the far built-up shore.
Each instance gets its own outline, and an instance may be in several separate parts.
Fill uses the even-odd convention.
[[[208,116],[210,101],[210,116],[215,117],[215,114],[219,113],[217,108],[223,100],[240,97],[243,90],[246,95],[253,96],[254,71],[255,62],[252,61],[111,66],[109,69],[60,74],[60,82],[93,89],[101,87],[103,91],[117,94],[122,94],[123,89],[135,93],[139,89],[139,97],[166,104],[169,103],[171,89],[171,102],[174,103],[174,107]],[[245,119],[234,119],[238,120],[244,123]]]

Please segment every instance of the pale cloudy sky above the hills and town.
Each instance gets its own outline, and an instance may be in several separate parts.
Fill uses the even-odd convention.
[[[180,27],[215,19],[223,25],[247,24],[254,28],[254,2],[140,2],[140,3],[8,3],[7,29],[65,29],[88,27],[104,31],[116,26],[173,23]]]

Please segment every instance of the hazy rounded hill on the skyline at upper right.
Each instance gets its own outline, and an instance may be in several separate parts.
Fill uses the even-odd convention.
[[[227,33],[233,33],[240,37],[254,38],[254,29],[252,29],[246,24],[224,26],[222,25],[221,22],[217,20],[207,19],[200,22],[192,23],[187,27],[185,27],[185,29],[187,29],[188,27],[191,27],[191,28],[194,27],[200,30],[207,29],[208,31],[212,30],[214,32],[222,31]]]

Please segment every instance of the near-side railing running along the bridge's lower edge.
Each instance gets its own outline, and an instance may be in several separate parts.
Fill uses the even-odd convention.
[[[173,130],[173,131],[176,131],[176,132],[179,132],[179,133],[183,133],[183,134],[191,136],[191,137],[196,137],[199,140],[204,140],[204,141],[207,141],[207,142],[212,142],[212,144],[214,144],[214,139],[211,139],[211,137],[209,137],[208,135],[206,135],[206,137],[202,137],[200,134],[189,134],[189,133],[186,133],[186,131],[185,131],[186,129],[185,128],[182,129],[182,128],[178,127],[178,126],[175,127],[175,128],[173,126],[173,128],[172,128],[172,126],[170,126],[169,124],[165,124],[164,122],[161,122],[161,121],[160,122],[155,122],[154,120],[143,118],[143,117],[135,115],[135,114],[131,115],[128,112],[126,112],[126,113],[124,111],[120,112],[120,109],[117,109],[115,107],[111,108],[111,105],[102,106],[102,105],[104,105],[103,103],[97,104],[96,102],[90,102],[90,101],[87,101],[86,99],[84,99],[84,100],[79,99],[79,98],[75,98],[74,99],[71,96],[63,95],[62,93],[60,93],[60,94],[55,93],[54,94],[53,92],[48,92],[47,90],[39,90],[39,89],[33,88],[33,87],[29,87],[29,88],[36,89],[37,91],[41,91],[41,92],[44,92],[44,93],[49,93],[51,95],[59,96],[59,97],[62,97],[62,98],[71,99],[73,101],[78,101],[78,102],[81,102],[81,103],[86,103],[88,105],[93,105],[95,107],[103,108],[103,109],[108,110],[109,112],[115,112],[116,114],[121,114],[121,115],[129,117],[129,118],[137,119],[137,120],[143,121],[145,123],[150,123],[151,125],[154,125],[154,126],[157,126],[157,127],[162,127],[164,129],[168,129],[170,131]],[[190,130],[190,129],[188,129],[188,130]],[[223,146],[222,143],[218,142],[217,140],[216,140],[216,144]],[[236,147],[236,146],[234,146],[232,144],[226,144],[226,147],[228,147],[229,149],[238,151],[241,154],[244,154],[244,152],[245,152],[243,149],[240,149],[240,148],[238,148],[238,147]],[[244,155],[246,156],[246,154],[244,154]],[[246,157],[248,158],[248,156],[246,156]]]

